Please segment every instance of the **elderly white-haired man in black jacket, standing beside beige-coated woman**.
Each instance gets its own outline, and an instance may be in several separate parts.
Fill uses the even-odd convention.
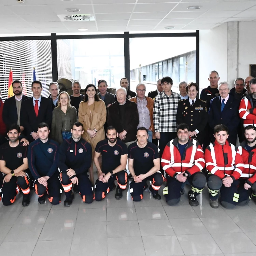
[[[137,104],[126,98],[126,89],[116,90],[117,101],[110,105],[108,114],[108,126],[114,126],[118,132],[118,138],[127,147],[136,141],[139,114]]]

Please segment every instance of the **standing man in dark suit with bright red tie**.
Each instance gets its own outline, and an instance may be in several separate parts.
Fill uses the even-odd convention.
[[[42,83],[33,81],[31,90],[33,97],[24,101],[24,111],[20,120],[20,124],[25,127],[29,142],[39,138],[37,130],[40,123],[51,126],[53,116],[51,101],[41,96]]]

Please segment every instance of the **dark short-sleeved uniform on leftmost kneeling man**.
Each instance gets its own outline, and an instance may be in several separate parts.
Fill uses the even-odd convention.
[[[0,160],[5,161],[5,166],[11,171],[14,171],[23,165],[23,159],[27,158],[27,151],[28,147],[23,146],[23,143],[19,143],[16,147],[11,147],[9,142],[6,142],[0,148]],[[0,199],[2,196],[4,205],[11,205],[15,202],[19,189],[22,190],[24,195],[29,195],[29,169],[25,170],[25,172],[27,173],[27,176],[25,177],[13,176],[9,182],[0,184]],[[2,178],[4,178],[5,175],[6,174],[3,173]]]

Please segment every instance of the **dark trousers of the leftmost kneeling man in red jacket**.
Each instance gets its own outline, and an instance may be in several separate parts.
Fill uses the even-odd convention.
[[[175,205],[181,200],[181,190],[184,188],[185,184],[190,184],[191,190],[194,195],[197,196],[202,193],[205,183],[206,177],[202,172],[196,172],[190,177],[187,177],[184,183],[167,175],[167,186],[163,189],[163,195],[168,205]]]

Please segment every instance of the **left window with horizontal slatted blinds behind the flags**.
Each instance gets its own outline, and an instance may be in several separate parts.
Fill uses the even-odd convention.
[[[0,88],[2,99],[8,97],[10,67],[13,81],[20,80],[23,93],[32,96],[33,68],[37,80],[42,82],[43,96],[49,95],[52,81],[51,40],[0,41]]]

